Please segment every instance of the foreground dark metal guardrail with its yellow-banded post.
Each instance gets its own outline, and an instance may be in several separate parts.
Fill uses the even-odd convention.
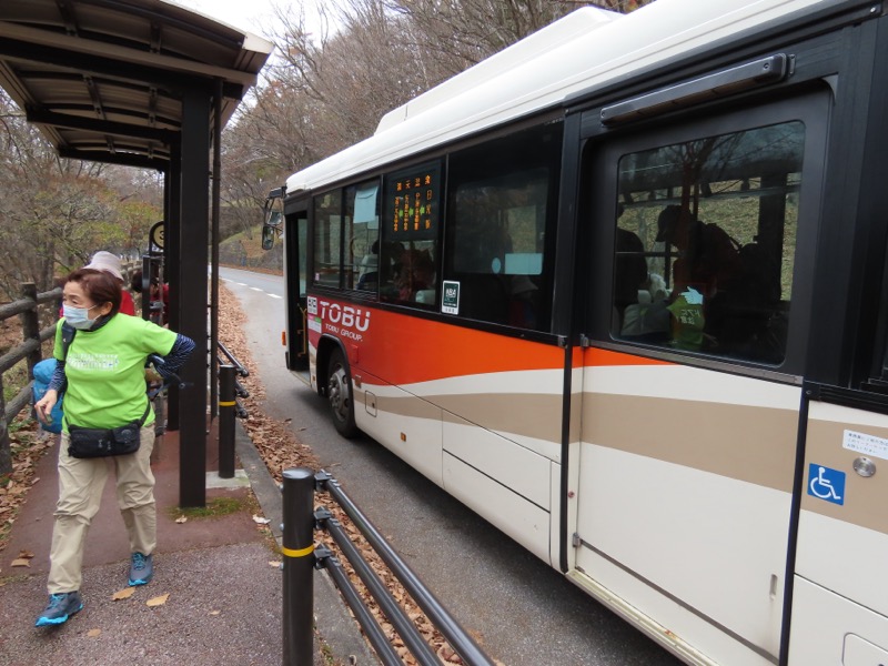
[[[428,620],[460,655],[464,664],[467,666],[493,666],[491,658],[482,652],[477,643],[389,545],[382,534],[340,487],[335,478],[324,471],[313,474],[311,470],[303,467],[285,471],[283,478],[284,523],[281,552],[284,555],[283,663],[285,666],[313,664],[314,594],[312,577],[315,568],[325,568],[330,573],[333,583],[353,610],[380,660],[385,666],[403,665],[402,658],[366,608],[349,576],[342,569],[339,559],[326,547],[314,548],[315,528],[323,529],[331,535],[416,662],[421,666],[441,666],[441,660],[420,634],[416,625],[361,556],[360,551],[349,539],[339,521],[325,508],[312,512],[315,491],[327,492],[342,507],[389,569],[422,608]]]

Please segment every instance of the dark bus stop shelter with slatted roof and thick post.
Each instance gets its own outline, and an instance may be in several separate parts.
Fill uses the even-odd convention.
[[[218,293],[208,264],[212,248],[215,276],[220,137],[271,49],[163,0],[0,2],[0,85],[59,155],[163,173],[170,326],[196,345],[181,372],[191,387],[170,400],[182,506],[205,503]]]

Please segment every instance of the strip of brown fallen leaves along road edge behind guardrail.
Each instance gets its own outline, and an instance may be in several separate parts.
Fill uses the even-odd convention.
[[[259,454],[265,461],[265,466],[269,468],[269,472],[271,472],[278,483],[281,483],[283,481],[282,472],[284,470],[292,470],[294,467],[320,470],[321,464],[317,457],[309,446],[299,442],[293,432],[294,430],[296,432],[304,431],[305,427],[292,423],[292,418],[276,421],[262,412],[261,407],[265,400],[265,387],[262,385],[262,381],[255,372],[255,364],[252,362],[246,336],[243,333],[243,324],[246,319],[241,311],[238,299],[225,289],[224,285],[220,285],[219,289],[219,339],[231,350],[241,363],[250,370],[249,376],[239,377],[239,382],[250,392],[250,397],[241,398],[242,404],[250,414],[248,418],[241,420],[241,424],[250,435],[256,451],[259,451]],[[349,533],[352,543],[361,551],[364,559],[370,563],[373,571],[383,581],[398,605],[404,608],[407,617],[413,620],[413,624],[416,625],[418,632],[432,646],[432,649],[435,650],[438,658],[442,659],[442,663],[463,664],[460,655],[453,652],[444,639],[444,636],[432,625],[416,602],[401,585],[401,582],[389,571],[389,567],[366,542],[357,527],[352,524],[351,518],[345,515],[345,512],[343,512],[335,502],[331,501],[326,493],[317,493],[315,495],[315,505],[330,509],[333,517],[340,522],[340,525]],[[410,654],[404,646],[404,642],[385,619],[375,599],[371,596],[357,574],[355,574],[349,561],[345,559],[329,535],[325,533],[319,534],[322,536],[321,541],[323,545],[327,546],[342,564],[343,569],[357,589],[364,604],[376,618],[377,624],[384,627],[386,636],[390,637],[392,645],[401,655],[404,664],[406,666],[414,666],[416,659]],[[271,565],[272,563],[270,562],[269,564]],[[275,563],[274,566],[279,565]],[[319,630],[323,635],[323,627],[319,627]],[[478,636],[473,636],[473,638],[477,643],[481,643]]]

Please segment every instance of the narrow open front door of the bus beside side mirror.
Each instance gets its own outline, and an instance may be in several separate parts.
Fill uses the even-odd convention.
[[[309,376],[307,332],[307,248],[309,200],[287,203],[284,233],[284,275],[286,293],[286,366],[303,382],[311,385]]]

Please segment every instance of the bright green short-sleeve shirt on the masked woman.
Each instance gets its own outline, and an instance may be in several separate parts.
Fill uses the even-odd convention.
[[[62,320],[64,321],[64,320]],[[53,355],[62,357],[61,322]],[[62,426],[118,427],[145,412],[145,359],[165,356],[176,334],[140,317],[117,314],[98,331],[78,331],[68,349]],[[145,425],[154,422],[149,410]]]

